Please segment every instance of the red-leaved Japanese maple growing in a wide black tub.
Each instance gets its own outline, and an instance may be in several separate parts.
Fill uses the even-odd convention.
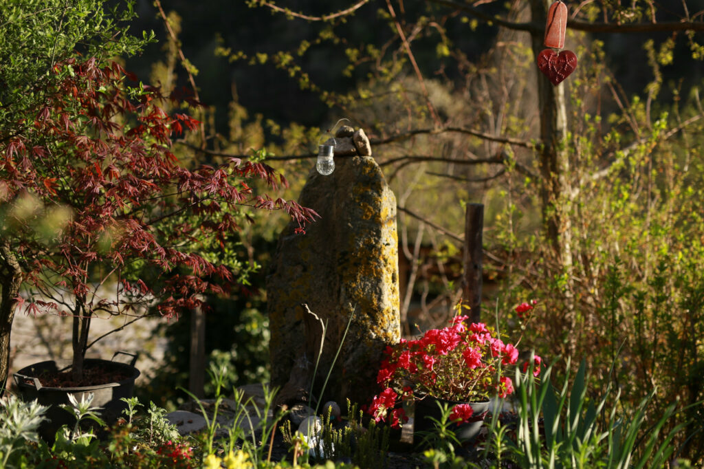
[[[161,105],[195,104],[188,94],[130,87],[134,76],[96,58],[69,58],[51,73],[53,85],[36,90],[45,96],[36,115],[0,142],[0,315],[11,322],[21,306],[73,316],[78,379],[92,318],[150,308],[171,317],[236,283],[199,247],[212,239],[225,246],[239,230],[241,207],[287,211],[301,230],[317,214],[256,194],[249,180],[287,184],[263,163],[181,163],[172,137],[197,122]],[[23,282],[28,298],[20,296]],[[0,344],[0,380],[7,354]]]

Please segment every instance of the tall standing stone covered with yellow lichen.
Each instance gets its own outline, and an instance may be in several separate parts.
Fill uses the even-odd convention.
[[[296,223],[287,226],[267,278],[272,385],[284,387],[282,404],[308,399],[301,395],[307,389],[291,395],[286,384],[302,391],[305,380],[291,375],[306,367],[312,373],[315,366],[315,353],[306,342],[316,342],[304,333],[315,330],[304,328],[310,308],[322,323],[327,321],[313,387],[317,399],[355,311],[325,396],[365,403],[378,392],[382,351],[400,337],[396,197],[374,158],[348,156],[335,158],[332,175],[311,170],[299,203],[313,208],[320,219],[304,235],[294,232]]]

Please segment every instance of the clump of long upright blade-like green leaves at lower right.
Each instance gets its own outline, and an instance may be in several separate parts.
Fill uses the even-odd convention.
[[[655,391],[627,410],[620,391],[607,389],[597,399],[588,396],[584,361],[574,380],[565,377],[558,389],[551,383],[552,370],[543,370],[539,383],[532,370],[516,370],[515,438],[495,415],[484,447],[492,468],[502,467],[501,461],[521,468],[654,468],[671,460],[679,446],[675,437],[686,428],[676,404],[658,406],[658,418],[650,420],[646,415]],[[678,423],[666,430],[671,420]]]

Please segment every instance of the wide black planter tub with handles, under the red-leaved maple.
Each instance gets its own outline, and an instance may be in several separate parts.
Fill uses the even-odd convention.
[[[130,363],[120,363],[114,361],[115,356],[119,354],[131,356]],[[56,361],[42,361],[34,363],[22,368],[17,373],[13,374],[15,385],[18,389],[18,394],[24,401],[33,401],[36,399],[39,404],[49,406],[46,411],[45,420],[39,427],[39,435],[46,442],[54,442],[56,430],[61,425],[73,427],[75,418],[73,415],[59,407],[61,404],[70,404],[69,395],[73,395],[74,399],[80,401],[84,394],[93,394],[92,406],[100,408],[98,412],[100,417],[106,421],[108,425],[115,423],[122,411],[127,408],[125,402],[120,401],[123,397],[130,398],[134,394],[134,380],[139,376],[139,370],[134,368],[134,363],[137,361],[136,354],[128,354],[127,352],[118,351],[113,355],[112,360],[101,360],[98,358],[86,358],[84,368],[99,366],[109,372],[127,374],[128,377],[118,382],[108,382],[106,384],[97,384],[95,386],[79,386],[79,387],[45,387],[39,382],[39,377],[42,373],[56,373],[57,371],[65,371],[70,369],[70,365],[58,368]]]

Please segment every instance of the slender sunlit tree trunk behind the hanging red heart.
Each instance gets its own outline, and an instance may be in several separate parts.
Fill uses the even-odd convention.
[[[531,0],[534,23],[543,24],[551,1]],[[532,34],[534,58],[543,49],[543,32]],[[565,82],[553,86],[542,73],[538,73],[538,99],[540,113],[539,163],[542,176],[542,213],[548,240],[553,247],[558,266],[565,275],[565,322],[567,323],[567,353],[574,355],[577,341],[575,329],[577,315],[572,294],[572,223],[570,220],[570,154],[567,151],[567,106]]]

